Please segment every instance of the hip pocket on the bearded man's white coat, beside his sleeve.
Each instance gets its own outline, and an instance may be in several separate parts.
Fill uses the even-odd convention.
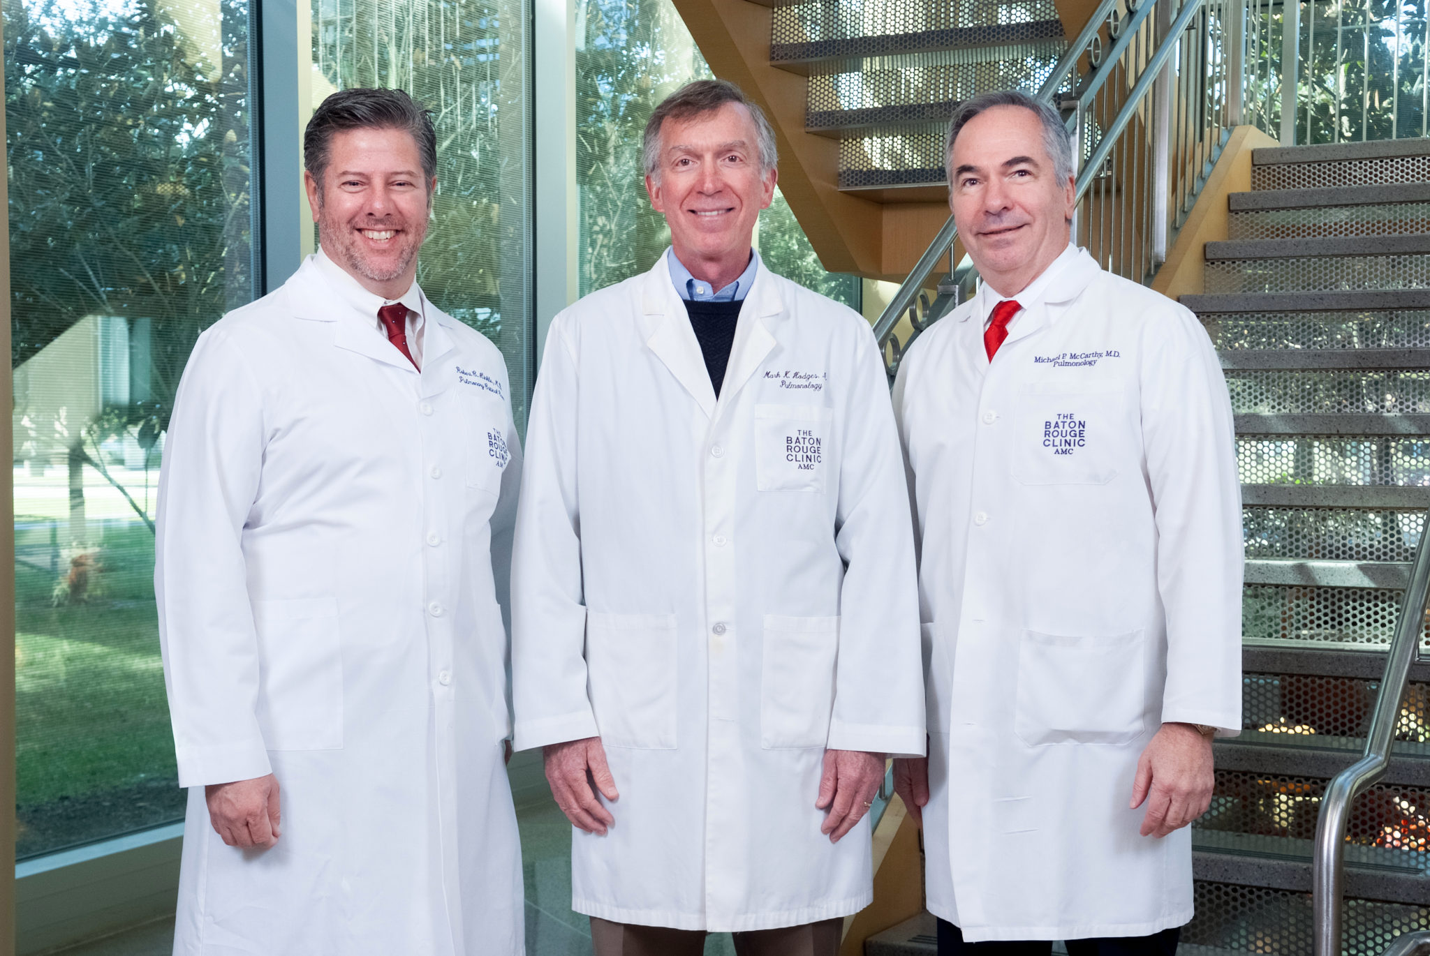
[[[343,654],[332,597],[255,600],[257,720],[269,750],[343,746]]]

